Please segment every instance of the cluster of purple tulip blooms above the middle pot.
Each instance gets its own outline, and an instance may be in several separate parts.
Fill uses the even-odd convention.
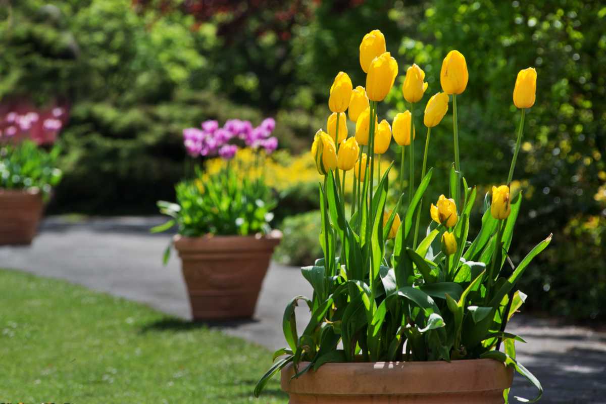
[[[228,119],[222,128],[217,121],[205,121],[201,129],[184,129],[183,141],[185,150],[192,157],[219,154],[226,160],[232,159],[238,145],[242,144],[254,149],[264,148],[265,153],[271,154],[278,148],[278,139],[271,136],[275,128],[273,118],[265,118],[258,127],[240,119]]]

